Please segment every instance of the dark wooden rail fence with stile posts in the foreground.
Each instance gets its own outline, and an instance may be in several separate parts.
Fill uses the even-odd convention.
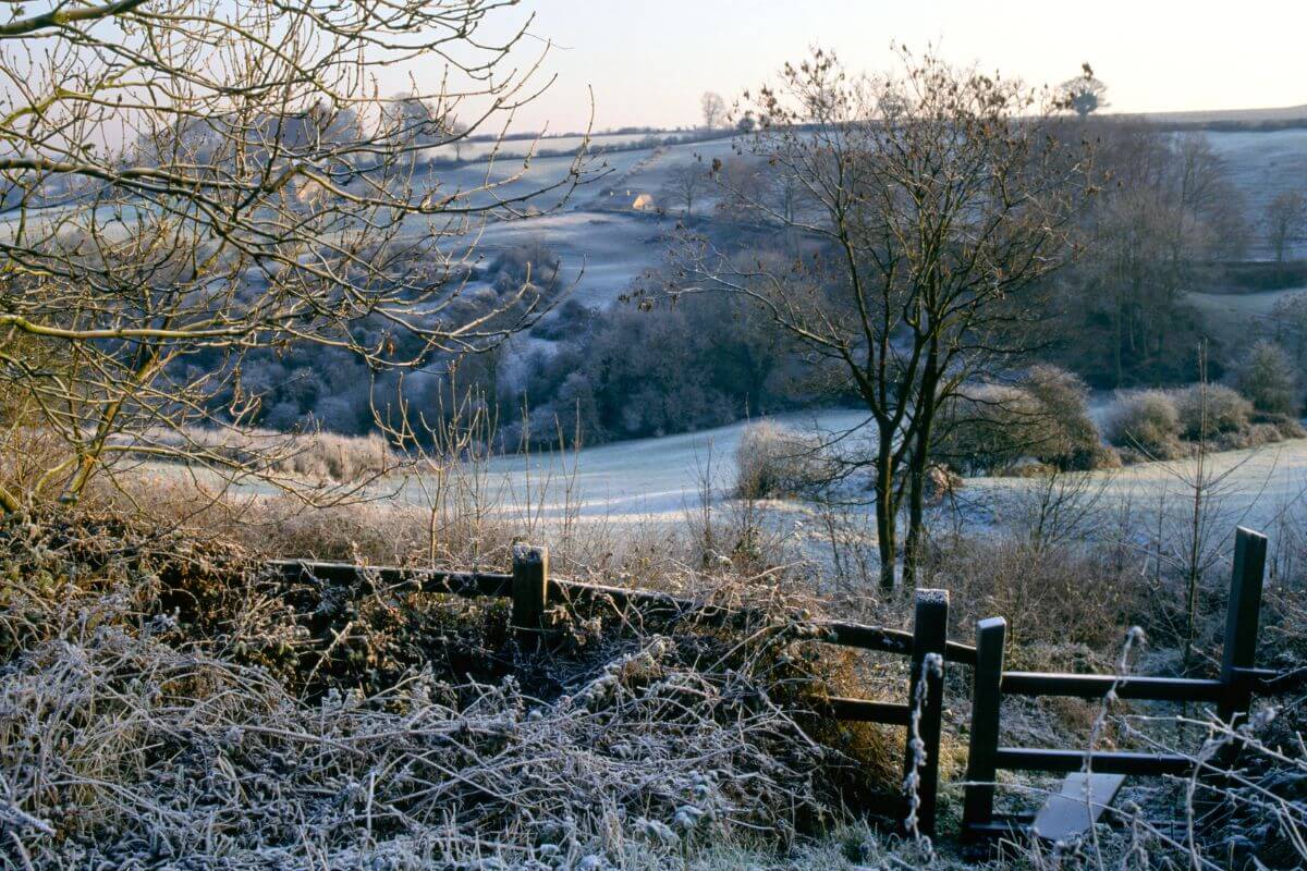
[[[904,700],[830,697],[819,704],[817,713],[840,721],[904,727],[904,784],[912,785],[910,798],[915,807],[915,828],[923,834],[933,834],[936,829],[944,676],[950,663],[972,667],[970,752],[962,819],[965,838],[1005,834],[1027,823],[1025,817],[996,817],[995,778],[999,770],[1078,772],[1091,767],[1099,773],[1189,773],[1193,761],[1182,755],[1004,747],[1000,740],[1002,697],[1103,699],[1111,692],[1119,699],[1209,703],[1217,706],[1222,720],[1236,722],[1247,716],[1253,692],[1266,688],[1273,676],[1253,667],[1265,555],[1265,537],[1247,529],[1236,531],[1225,658],[1218,679],[1004,671],[1008,627],[1004,618],[979,620],[975,646],[949,641],[948,590],[919,589],[911,632],[843,620],[814,623],[817,641],[910,657]],[[510,597],[510,623],[524,644],[538,642],[546,631],[546,612],[557,606],[608,603],[618,611],[638,611],[647,616],[693,615],[697,624],[706,627],[744,626],[763,616],[750,609],[704,606],[667,593],[555,578],[549,573],[548,551],[525,545],[514,548],[511,573],[363,569],[348,563],[303,560],[278,560],[272,565],[288,577],[336,584],[349,584],[366,571],[400,593]]]

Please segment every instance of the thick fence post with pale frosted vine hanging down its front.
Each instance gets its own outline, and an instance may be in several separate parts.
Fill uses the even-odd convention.
[[[914,714],[908,725],[903,786],[908,800],[914,791],[916,794],[916,833],[932,837],[940,791],[940,721],[944,716],[944,648],[948,639],[949,592],[918,590],[912,623],[912,678],[907,697]],[[938,667],[927,670],[924,663],[932,653],[937,656]],[[925,686],[919,689],[923,679]],[[918,695],[921,696],[919,710]],[[910,808],[910,820],[911,816]]]

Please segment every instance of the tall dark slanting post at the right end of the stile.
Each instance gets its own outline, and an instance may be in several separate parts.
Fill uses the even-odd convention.
[[[1236,725],[1252,704],[1252,683],[1235,669],[1252,669],[1257,657],[1257,623],[1261,618],[1261,578],[1266,569],[1266,537],[1240,526],[1234,539],[1234,575],[1230,578],[1230,603],[1226,606],[1225,653],[1221,682],[1225,700],[1217,712],[1221,720]]]

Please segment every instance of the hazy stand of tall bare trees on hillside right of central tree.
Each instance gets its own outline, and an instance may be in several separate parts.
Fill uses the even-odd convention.
[[[1090,118],[1097,196],[1080,215],[1082,255],[1056,283],[1050,354],[1094,388],[1199,380],[1204,336],[1185,291],[1222,281],[1249,239],[1247,206],[1202,133]],[[1209,375],[1229,360],[1214,356]]]

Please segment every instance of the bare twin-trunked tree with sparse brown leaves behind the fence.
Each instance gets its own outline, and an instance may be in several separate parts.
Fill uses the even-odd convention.
[[[1040,279],[1072,252],[1085,168],[1055,135],[1047,94],[906,50],[901,67],[851,76],[822,51],[787,65],[754,101],[752,149],[813,208],[753,208],[801,230],[808,255],[748,257],[698,239],[684,265],[691,291],[748,296],[861,397],[876,443],[855,466],[873,471],[885,588],[904,500],[914,580],[936,413],[1030,347]]]

